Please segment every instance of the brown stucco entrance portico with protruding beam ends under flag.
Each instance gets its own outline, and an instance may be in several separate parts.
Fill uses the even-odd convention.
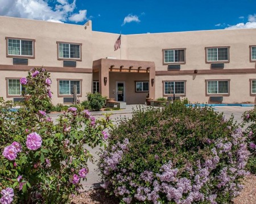
[[[155,98],[155,63],[125,59],[93,61],[93,81],[102,96],[127,104],[144,104],[146,96]]]

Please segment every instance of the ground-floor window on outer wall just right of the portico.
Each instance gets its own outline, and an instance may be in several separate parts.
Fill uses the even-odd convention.
[[[185,94],[185,81],[183,82],[164,82],[164,93],[163,95],[171,94]]]

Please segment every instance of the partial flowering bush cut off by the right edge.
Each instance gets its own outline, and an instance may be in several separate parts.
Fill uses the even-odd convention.
[[[245,134],[247,135],[247,146],[250,156],[247,168],[251,173],[256,174],[256,108],[243,113],[243,125],[248,125]]]

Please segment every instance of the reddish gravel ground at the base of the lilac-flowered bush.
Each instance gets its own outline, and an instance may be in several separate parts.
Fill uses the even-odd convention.
[[[234,204],[254,204],[256,197],[256,176],[245,177],[244,188]],[[89,190],[72,199],[72,204],[117,204],[118,200],[109,196],[104,189]]]

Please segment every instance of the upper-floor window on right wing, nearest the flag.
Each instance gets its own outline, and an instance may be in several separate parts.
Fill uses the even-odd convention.
[[[165,49],[164,63],[185,62],[185,49]]]

